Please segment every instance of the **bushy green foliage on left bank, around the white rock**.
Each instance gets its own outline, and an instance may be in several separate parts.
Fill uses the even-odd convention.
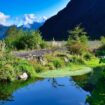
[[[0,80],[14,81],[24,72],[27,72],[30,78],[36,75],[34,67],[28,61],[15,58],[8,53],[1,54]]]

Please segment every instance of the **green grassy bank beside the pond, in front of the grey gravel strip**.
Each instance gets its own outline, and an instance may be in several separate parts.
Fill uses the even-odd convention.
[[[16,81],[20,75],[27,73],[28,78],[36,77],[63,77],[82,75],[90,72],[80,58],[55,52],[44,56],[44,61],[25,60],[14,57],[11,53],[0,53],[0,80]],[[74,59],[74,61],[70,61]],[[81,61],[81,63],[80,63]]]

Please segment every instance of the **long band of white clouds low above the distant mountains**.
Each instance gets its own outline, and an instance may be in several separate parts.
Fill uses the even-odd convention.
[[[30,24],[33,24],[34,22],[44,22],[47,20],[46,16],[43,17],[37,17],[35,14],[24,14],[21,17],[10,17],[9,15],[6,15],[2,12],[0,12],[0,24],[5,26],[10,25],[17,25],[21,26],[24,25],[26,27],[29,27]]]

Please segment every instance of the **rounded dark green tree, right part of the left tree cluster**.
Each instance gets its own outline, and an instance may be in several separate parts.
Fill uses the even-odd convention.
[[[38,49],[45,44],[39,31],[26,31],[15,43],[17,49]]]

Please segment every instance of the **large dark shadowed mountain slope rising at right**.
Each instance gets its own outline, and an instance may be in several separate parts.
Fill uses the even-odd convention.
[[[40,28],[43,38],[64,40],[68,30],[81,24],[90,35],[97,39],[105,35],[105,0],[71,0],[57,15],[48,19]]]

